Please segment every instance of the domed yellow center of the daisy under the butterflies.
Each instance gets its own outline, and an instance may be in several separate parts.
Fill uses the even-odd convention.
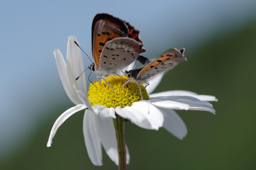
[[[126,76],[121,75],[121,77],[128,81]],[[140,86],[140,89],[135,82],[129,82],[123,86],[126,82],[121,79],[121,77],[111,76],[106,78],[106,81],[111,85],[113,91],[104,79],[101,79],[100,83],[99,81],[94,81],[94,84],[90,84],[88,99],[91,106],[96,104],[106,106],[107,108],[116,108],[117,106],[123,108],[125,106],[131,106],[133,102],[142,100],[140,89],[143,94],[143,99],[148,100],[149,96],[143,85]]]

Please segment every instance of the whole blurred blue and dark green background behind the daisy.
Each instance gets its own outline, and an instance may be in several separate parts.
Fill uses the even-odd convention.
[[[189,131],[184,140],[126,123],[128,169],[256,169],[255,9],[255,0],[1,1],[0,169],[118,169],[106,154],[104,166],[91,164],[83,112],[46,147],[57,117],[74,106],[52,52],[65,55],[67,38],[75,35],[91,55],[91,21],[101,12],[140,30],[146,57],[186,48],[188,62],[165,74],[155,92],[218,98],[216,115],[177,111]]]

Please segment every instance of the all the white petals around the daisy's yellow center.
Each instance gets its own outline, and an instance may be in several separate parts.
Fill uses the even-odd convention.
[[[149,100],[134,102],[132,106],[121,108],[107,108],[106,106],[91,106],[87,98],[87,88],[84,75],[79,81],[74,79],[83,72],[82,56],[79,48],[74,44],[74,37],[69,37],[67,45],[67,64],[62,57],[60,50],[55,50],[57,69],[70,100],[76,105],[62,113],[55,121],[48,147],[52,143],[57,129],[71,115],[86,109],[84,113],[84,141],[87,147],[89,158],[94,165],[102,164],[101,145],[103,145],[108,157],[118,164],[118,152],[116,146],[115,130],[113,128],[113,118],[120,115],[122,118],[141,128],[158,130],[163,127],[179,139],[187,135],[187,128],[183,120],[174,110],[196,110],[208,111],[215,114],[211,103],[207,101],[217,101],[214,96],[198,95],[190,91],[165,91],[157,94],[150,94],[160,83],[162,74],[150,81],[147,91],[150,94]],[[129,154],[127,149],[127,162]]]

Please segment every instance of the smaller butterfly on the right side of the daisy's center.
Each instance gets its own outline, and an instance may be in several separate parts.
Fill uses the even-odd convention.
[[[162,72],[167,72],[170,69],[173,69],[177,64],[187,61],[187,58],[184,57],[185,49],[177,50],[177,48],[171,48],[161,55],[159,55],[155,60],[150,62],[148,58],[140,56],[138,61],[144,65],[144,67],[138,69],[131,69],[126,71],[126,76],[130,78],[130,82],[136,82],[139,86],[146,84],[148,86],[148,80],[157,76]],[[127,84],[128,81],[125,83]],[[124,84],[124,85],[125,85]],[[140,96],[143,99],[143,95],[140,89]]]

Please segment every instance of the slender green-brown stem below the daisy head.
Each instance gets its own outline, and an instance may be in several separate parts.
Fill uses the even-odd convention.
[[[116,142],[118,147],[118,169],[126,170],[126,137],[124,132],[124,119],[116,115],[116,119],[113,119],[113,125],[116,130]]]

